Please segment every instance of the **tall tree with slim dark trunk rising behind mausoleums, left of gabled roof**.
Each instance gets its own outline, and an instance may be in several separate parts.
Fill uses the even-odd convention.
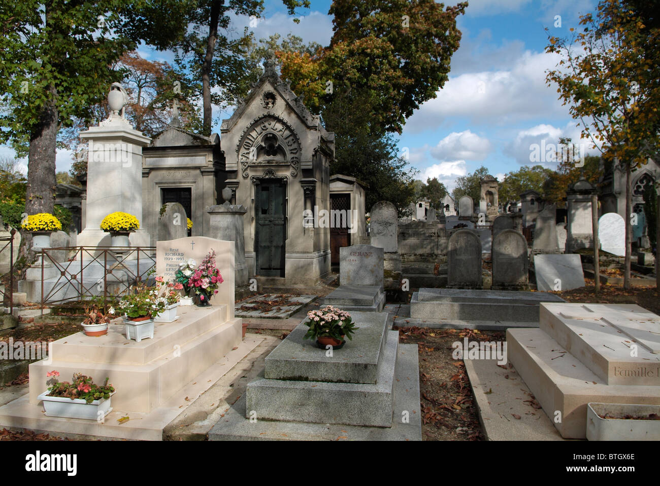
[[[282,0],[289,14],[298,7],[310,7],[309,0]],[[248,15],[256,20],[263,11],[263,0],[196,0],[181,22],[187,33],[175,45],[176,62],[189,73],[187,83],[197,89],[203,102],[203,134],[211,135],[212,105],[219,104],[221,94],[213,92],[220,86],[240,87],[249,74],[248,47],[251,36],[230,40],[231,17]],[[295,19],[294,22],[300,22]],[[224,33],[222,32],[224,31]]]

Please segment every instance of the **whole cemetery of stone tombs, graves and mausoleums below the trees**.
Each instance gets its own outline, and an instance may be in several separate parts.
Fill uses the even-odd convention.
[[[660,440],[657,153],[505,175],[465,148],[424,183],[364,129],[411,115],[347,135],[372,88],[335,72],[329,101],[290,42],[223,74],[242,92],[205,72],[203,119],[177,81],[156,128],[111,72],[76,180],[34,194],[30,161],[20,204],[3,186],[0,439]]]

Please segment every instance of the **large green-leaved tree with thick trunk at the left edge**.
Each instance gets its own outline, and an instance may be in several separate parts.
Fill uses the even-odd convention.
[[[28,214],[53,212],[59,128],[89,119],[116,80],[112,65],[122,53],[141,40],[165,45],[183,32],[180,11],[187,1],[2,3],[0,141],[28,154]],[[26,256],[31,238],[22,236]]]

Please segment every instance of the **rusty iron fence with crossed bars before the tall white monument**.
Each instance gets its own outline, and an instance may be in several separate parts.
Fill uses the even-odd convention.
[[[60,252],[56,254],[55,252]],[[62,259],[73,254],[67,261]],[[156,248],[117,246],[67,246],[42,248],[37,254],[41,267],[41,307],[94,296],[116,298],[131,286],[146,280],[156,263]],[[59,256],[59,258],[58,258]],[[91,275],[91,277],[90,277]]]

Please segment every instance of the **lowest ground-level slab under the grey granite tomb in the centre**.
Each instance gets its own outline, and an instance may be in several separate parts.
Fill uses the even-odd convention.
[[[246,419],[244,396],[209,432],[209,441],[421,441],[416,344],[399,344],[391,427]]]

